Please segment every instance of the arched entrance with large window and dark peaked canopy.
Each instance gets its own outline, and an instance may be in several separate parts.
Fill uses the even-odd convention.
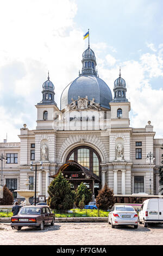
[[[64,177],[71,182],[72,189],[76,190],[81,182],[91,189],[92,199],[96,198],[101,189],[101,158],[91,147],[80,146],[74,148],[66,158],[57,174],[61,171]]]

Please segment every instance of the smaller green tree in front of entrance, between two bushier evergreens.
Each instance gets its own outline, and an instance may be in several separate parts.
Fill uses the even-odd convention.
[[[89,190],[83,182],[78,186],[76,190],[76,205],[79,206],[79,202],[84,195],[84,204],[88,204],[92,199],[92,192]]]

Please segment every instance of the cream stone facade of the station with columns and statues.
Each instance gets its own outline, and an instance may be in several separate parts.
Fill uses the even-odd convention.
[[[109,105],[110,109],[89,108],[86,105],[71,109],[69,104],[60,111],[55,104],[37,104],[36,129],[28,130],[24,125],[18,136],[20,142],[0,143],[0,154],[8,154],[8,163],[3,162],[4,184],[16,179],[17,189],[26,189],[26,180],[35,175],[30,170],[30,162],[42,160],[41,145],[44,143],[48,148],[48,158],[43,161],[43,170],[38,169],[37,172],[37,191],[40,195],[48,197],[47,189],[52,180],[49,176],[57,173],[68,154],[80,146],[90,147],[98,153],[101,184],[108,184],[115,194],[159,194],[158,167],[161,165],[163,139],[154,139],[155,132],[150,122],[140,129],[130,127],[130,102],[112,101]],[[117,117],[118,109],[122,109],[121,117]],[[45,111],[47,119],[44,118]],[[117,145],[123,148],[119,157]],[[136,149],[140,150],[140,155],[137,153],[139,159]],[[34,150],[34,160],[31,150]],[[155,156],[151,169],[146,159],[150,152]],[[142,177],[141,185],[135,184],[136,177]]]

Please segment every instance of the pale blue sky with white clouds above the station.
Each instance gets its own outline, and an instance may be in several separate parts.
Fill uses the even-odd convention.
[[[82,69],[88,28],[112,95],[121,66],[130,126],[151,120],[163,138],[162,0],[0,0],[0,7],[0,142],[20,141],[23,124],[35,129],[48,71],[60,108],[62,90]]]

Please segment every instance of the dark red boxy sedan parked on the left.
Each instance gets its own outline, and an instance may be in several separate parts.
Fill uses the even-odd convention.
[[[17,215],[11,217],[11,227],[21,230],[22,227],[37,227],[43,230],[44,225],[54,225],[54,214],[46,205],[23,206]]]

